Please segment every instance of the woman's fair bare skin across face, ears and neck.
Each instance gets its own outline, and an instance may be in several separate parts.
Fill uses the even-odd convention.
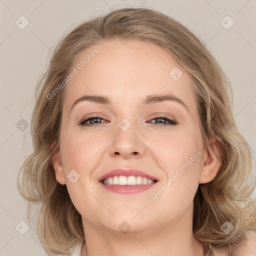
[[[125,256],[203,255],[202,244],[192,234],[193,197],[199,183],[215,177],[219,163],[203,146],[186,71],[158,45],[137,40],[107,40],[86,49],[75,63],[94,48],[97,55],[65,87],[60,148],[51,159],[56,180],[66,184],[82,216],[86,244],[81,256],[115,256],[120,251]],[[183,73],[176,81],[169,75],[174,67]],[[81,101],[70,111],[85,94],[107,96],[111,103]],[[142,104],[149,94],[173,94],[189,110],[169,100]],[[100,115],[99,125],[78,125],[94,114]],[[158,114],[175,118],[177,125],[160,126]],[[118,126],[123,118],[131,124],[126,131]],[[211,141],[211,148],[215,154],[220,150],[218,140]],[[196,151],[200,156],[150,202],[148,197]],[[142,170],[158,182],[135,194],[108,191],[97,179],[117,167]],[[80,175],[74,183],[67,178],[72,169]],[[123,221],[131,227],[125,234],[118,228]]]

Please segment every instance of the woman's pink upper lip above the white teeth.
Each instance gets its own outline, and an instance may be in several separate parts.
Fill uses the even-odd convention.
[[[146,178],[149,178],[152,180],[157,180],[156,177],[151,176],[141,170],[117,168],[117,169],[113,169],[113,170],[106,172],[104,175],[102,175],[100,178],[98,178],[98,181],[102,181],[108,177],[120,176],[120,175],[122,175],[122,176],[142,176],[142,177],[146,177]]]

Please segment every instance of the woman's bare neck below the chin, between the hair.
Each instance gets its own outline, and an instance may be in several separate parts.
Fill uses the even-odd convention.
[[[118,224],[116,225],[118,226]],[[203,244],[192,233],[192,218],[181,216],[169,223],[157,223],[143,230],[119,230],[94,226],[83,219],[85,243],[81,256],[203,256]]]

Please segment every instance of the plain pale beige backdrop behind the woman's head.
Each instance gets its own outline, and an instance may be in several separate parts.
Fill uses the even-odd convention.
[[[255,0],[0,0],[0,255],[46,255],[34,227],[20,234],[15,226],[27,222],[27,203],[17,191],[16,176],[32,150],[33,92],[49,49],[81,19],[130,6],[160,10],[206,43],[231,81],[236,123],[255,159]],[[24,29],[15,24],[21,15],[29,21]],[[220,23],[226,15],[234,21],[229,29]],[[23,131],[16,126],[21,118],[29,125]]]

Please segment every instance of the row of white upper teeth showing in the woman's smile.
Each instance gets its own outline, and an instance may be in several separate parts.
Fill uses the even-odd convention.
[[[103,184],[108,185],[149,185],[154,181],[152,179],[141,176],[113,176],[103,180]]]

